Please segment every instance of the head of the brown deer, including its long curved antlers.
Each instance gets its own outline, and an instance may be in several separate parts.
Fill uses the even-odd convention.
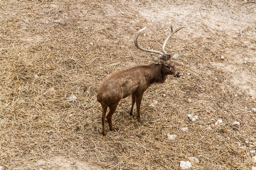
[[[166,38],[166,40],[164,40],[164,43],[163,43],[163,46],[162,46],[162,52],[159,52],[157,50],[151,50],[151,49],[145,49],[145,48],[142,48],[141,46],[138,45],[138,42],[137,42],[137,39],[138,39],[138,36],[139,34],[144,31],[144,29],[146,29],[146,27],[140,29],[134,36],[134,44],[135,46],[144,51],[144,52],[150,52],[150,53],[156,53],[156,54],[160,54],[160,57],[156,57],[154,55],[151,55],[153,61],[156,63],[156,64],[159,64],[161,67],[162,67],[162,71],[163,73],[165,74],[170,74],[170,75],[174,75],[176,77],[180,77],[180,73],[176,71],[176,68],[175,68],[175,64],[172,60],[175,60],[177,59],[177,57],[179,57],[179,54],[174,54],[172,56],[172,54],[168,54],[166,52],[166,50],[164,50],[165,46],[166,46],[166,43],[167,41],[170,39],[170,37],[172,35],[174,35],[175,32],[179,31],[181,28],[185,28],[185,27],[180,27],[178,29],[176,29],[175,31],[172,29],[172,26],[171,26],[171,33],[168,35],[168,37]]]

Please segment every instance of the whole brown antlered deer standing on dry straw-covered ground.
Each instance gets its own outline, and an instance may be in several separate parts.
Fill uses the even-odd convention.
[[[141,113],[139,111],[141,107],[143,92],[146,91],[152,83],[163,83],[166,80],[167,75],[180,77],[180,73],[175,69],[174,62],[171,61],[171,59],[176,59],[179,54],[171,56],[171,54],[166,53],[164,47],[166,46],[166,43],[170,37],[181,28],[184,27],[180,27],[173,31],[171,27],[171,33],[166,38],[162,46],[163,53],[156,50],[144,49],[138,45],[138,36],[144,29],[146,29],[146,27],[142,28],[135,34],[134,43],[138,49],[145,52],[160,54],[161,57],[159,58],[151,55],[154,63],[151,63],[150,65],[137,65],[126,70],[115,71],[102,80],[102,83],[97,89],[97,100],[101,103],[102,106],[103,135],[106,135],[105,118],[107,118],[109,122],[110,130],[114,130],[112,125],[112,116],[117,109],[118,102],[121,99],[131,95],[132,103],[130,115],[133,115],[133,107],[134,103],[136,102],[137,118],[138,121],[141,122]],[[109,113],[108,116],[106,116],[108,107]]]

